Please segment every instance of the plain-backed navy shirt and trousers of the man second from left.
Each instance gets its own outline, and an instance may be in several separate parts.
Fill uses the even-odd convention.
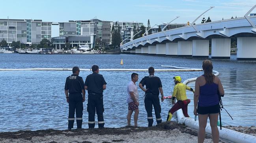
[[[104,80],[101,74],[97,74],[97,72],[93,72],[92,74],[86,77],[84,85],[87,86],[88,90],[88,126],[89,128],[95,127],[95,109],[98,116],[98,126],[99,128],[104,127],[104,119],[103,119],[103,85],[106,85],[106,81]]]

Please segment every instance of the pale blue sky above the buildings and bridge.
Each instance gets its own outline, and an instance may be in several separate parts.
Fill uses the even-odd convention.
[[[0,19],[41,19],[43,22],[68,22],[68,20],[90,20],[143,22],[151,26],[168,23],[194,21],[204,14],[212,21],[243,17],[256,0],[0,0]],[[6,5],[6,6],[3,6]],[[252,11],[256,13],[256,9]],[[202,16],[203,17],[203,16]],[[202,18],[196,21],[201,23]],[[52,37],[58,36],[58,27],[52,27]]]

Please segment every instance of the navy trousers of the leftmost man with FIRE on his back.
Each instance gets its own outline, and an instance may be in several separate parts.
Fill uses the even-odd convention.
[[[82,128],[83,121],[83,98],[82,94],[69,94],[69,124],[68,128],[73,128],[75,121],[75,111],[77,117],[77,128]]]

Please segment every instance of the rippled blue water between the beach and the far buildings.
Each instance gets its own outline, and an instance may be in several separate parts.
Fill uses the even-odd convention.
[[[225,96],[224,107],[232,115],[231,120],[222,111],[224,125],[251,126],[256,125],[256,62],[232,60],[212,60],[214,70],[220,72]],[[123,59],[124,65],[120,65]],[[165,69],[161,65],[201,68],[202,59],[171,58],[143,55],[32,55],[32,54],[0,54],[0,68],[72,68],[90,69],[93,64],[100,68]],[[39,129],[67,129],[68,103],[65,99],[65,78],[71,71],[0,71],[0,132]],[[91,72],[81,71],[85,80]],[[100,71],[107,81],[104,91],[105,127],[123,127],[127,124],[126,86],[132,72]],[[147,76],[147,72],[137,72],[139,81]],[[197,77],[203,72],[156,72],[162,80],[164,96],[172,94],[173,76],[179,75],[183,80]],[[138,83],[137,83],[138,85]],[[194,88],[194,83],[189,83]],[[142,90],[139,91],[140,113],[139,126],[147,126],[147,115],[144,108]],[[187,96],[193,99],[192,92]],[[88,128],[88,112],[84,102],[83,128]],[[171,101],[161,103],[162,119],[167,117]],[[193,118],[193,101],[189,104],[189,115]],[[154,115],[153,115],[154,116]],[[97,121],[97,117],[95,118]],[[173,120],[176,120],[174,117]],[[133,117],[132,117],[133,122]],[[133,123],[132,123],[133,124]],[[154,118],[154,124],[156,124]],[[76,127],[76,124],[74,125]],[[97,125],[96,125],[97,127]]]

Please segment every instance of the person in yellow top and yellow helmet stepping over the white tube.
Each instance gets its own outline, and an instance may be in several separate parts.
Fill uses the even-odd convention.
[[[194,93],[192,88],[181,83],[180,76],[174,76],[173,78],[175,86],[172,93],[172,104],[174,105],[169,110],[166,121],[170,121],[172,119],[172,114],[179,109],[182,109],[185,117],[189,117],[189,115],[187,114],[187,106],[190,103],[190,100],[187,98],[186,89]],[[175,98],[177,98],[177,103],[175,103]]]

